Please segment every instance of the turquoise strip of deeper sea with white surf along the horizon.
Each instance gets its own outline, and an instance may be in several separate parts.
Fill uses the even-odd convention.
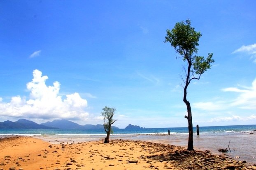
[[[199,127],[200,134],[216,134],[216,133],[248,133],[256,129],[256,125],[236,125],[236,126],[212,126],[212,127]],[[170,128],[145,128],[138,130],[115,129],[114,134],[188,134],[187,127],[170,127]],[[194,133],[196,129],[193,129]],[[18,134],[18,135],[65,135],[65,134],[84,134],[84,135],[99,135],[105,134],[102,130],[86,130],[86,129],[0,129],[0,136]]]

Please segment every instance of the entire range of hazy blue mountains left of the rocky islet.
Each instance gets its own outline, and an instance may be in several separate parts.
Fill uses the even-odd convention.
[[[113,129],[119,129],[112,126]],[[104,129],[103,125],[79,125],[69,120],[54,120],[37,124],[33,121],[20,119],[16,122],[5,121],[0,122],[0,129]]]

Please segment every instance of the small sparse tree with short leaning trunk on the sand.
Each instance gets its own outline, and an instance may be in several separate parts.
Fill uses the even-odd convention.
[[[104,129],[107,133],[107,137],[105,138],[104,143],[109,143],[109,136],[110,136],[110,133],[112,132],[111,125],[114,124],[114,122],[116,121],[116,120],[113,120],[113,116],[116,109],[105,106],[102,110],[103,111],[101,112],[101,116],[103,116]]]

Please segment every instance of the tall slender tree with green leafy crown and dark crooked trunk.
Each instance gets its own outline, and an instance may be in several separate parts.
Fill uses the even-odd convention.
[[[184,96],[183,102],[186,104],[188,115],[185,118],[189,124],[189,142],[187,150],[194,150],[193,148],[193,124],[192,124],[192,112],[190,103],[187,100],[187,88],[193,79],[199,80],[201,75],[206,70],[211,68],[213,54],[208,53],[208,56],[198,56],[199,39],[202,36],[200,32],[196,32],[195,28],[191,27],[191,20],[181,21],[176,23],[174,28],[170,31],[167,29],[165,36],[165,43],[169,42],[176,52],[182,57],[183,61],[187,63],[184,67],[186,77],[182,77],[184,84]]]

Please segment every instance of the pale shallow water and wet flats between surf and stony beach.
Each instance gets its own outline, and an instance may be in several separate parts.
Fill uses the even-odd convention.
[[[16,135],[12,135],[16,136]],[[23,135],[22,135],[23,136]],[[6,137],[6,136],[5,136]],[[44,136],[32,136],[39,138],[43,141],[47,141],[51,144],[59,144],[60,142],[68,143],[81,143],[88,141],[100,141],[105,138],[105,135],[93,135],[84,136],[79,134],[74,135],[44,135]],[[162,136],[161,134],[155,135],[111,135],[110,140],[129,140],[129,141],[146,141],[161,144],[169,144],[187,147],[188,136],[186,134],[174,134]],[[226,149],[230,142],[231,152],[226,154],[233,157],[236,160],[246,160],[249,163],[256,164],[256,145],[251,145],[255,141],[255,134],[249,135],[249,133],[229,133],[221,135],[207,135],[200,134],[200,136],[194,136],[194,149],[195,150],[209,150],[213,154],[221,154],[219,149]],[[248,150],[248,148],[250,148]]]

